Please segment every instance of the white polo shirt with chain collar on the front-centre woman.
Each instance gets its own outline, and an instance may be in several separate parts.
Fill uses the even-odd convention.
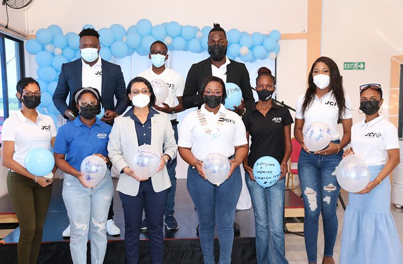
[[[191,147],[199,161],[213,152],[230,157],[235,153],[235,146],[244,144],[247,141],[242,119],[226,110],[223,104],[216,115],[207,111],[203,104],[200,110],[187,114],[179,128],[178,146]]]

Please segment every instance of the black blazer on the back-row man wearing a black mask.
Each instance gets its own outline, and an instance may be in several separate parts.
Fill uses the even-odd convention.
[[[237,84],[242,91],[242,98],[245,108],[249,109],[255,102],[252,90],[250,88],[249,73],[243,63],[229,60],[227,65],[227,82]],[[210,57],[204,61],[193,64],[187,73],[185,89],[182,96],[182,104],[186,109],[198,107],[204,103],[202,98],[202,82],[209,76],[212,76]]]

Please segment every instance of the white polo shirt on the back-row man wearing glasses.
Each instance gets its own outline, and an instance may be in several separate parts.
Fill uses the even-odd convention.
[[[143,77],[148,81],[155,79],[164,80],[168,84],[168,88],[170,88],[168,97],[164,102],[170,107],[176,107],[176,105],[179,104],[177,97],[181,97],[183,95],[183,90],[185,89],[185,83],[179,73],[165,67],[165,70],[161,74],[156,74],[153,72],[153,67],[151,67],[140,73],[138,76]],[[177,118],[176,113],[169,114],[168,116],[170,120],[175,120]]]

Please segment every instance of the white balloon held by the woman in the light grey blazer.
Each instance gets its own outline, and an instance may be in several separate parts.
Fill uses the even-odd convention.
[[[133,156],[133,170],[139,178],[149,178],[156,174],[161,164],[161,154],[150,145],[137,147]]]

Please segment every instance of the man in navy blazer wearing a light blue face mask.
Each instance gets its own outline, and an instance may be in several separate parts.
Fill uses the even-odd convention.
[[[74,120],[70,112],[72,101],[67,105],[67,96],[83,86],[91,86],[101,94],[105,109],[105,116],[101,120],[112,125],[115,117],[123,114],[127,108],[122,70],[119,65],[99,57],[99,34],[96,30],[83,29],[79,36],[82,58],[62,65],[53,102],[64,118]]]

